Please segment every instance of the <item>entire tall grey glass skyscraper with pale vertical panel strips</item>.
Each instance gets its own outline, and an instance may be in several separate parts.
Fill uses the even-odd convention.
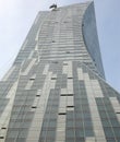
[[[0,142],[120,142],[93,2],[38,13],[0,82]]]

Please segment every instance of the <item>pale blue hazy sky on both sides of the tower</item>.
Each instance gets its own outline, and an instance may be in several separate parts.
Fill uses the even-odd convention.
[[[12,66],[38,11],[87,0],[0,0],[0,79]],[[120,0],[94,0],[107,82],[120,92]]]

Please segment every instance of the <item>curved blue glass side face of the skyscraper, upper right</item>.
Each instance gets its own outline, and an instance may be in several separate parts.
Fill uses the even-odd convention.
[[[82,32],[86,49],[91,55],[93,62],[97,68],[97,71],[100,73],[100,76],[105,79],[105,72],[101,63],[101,54],[97,35],[94,1],[91,1],[83,15]]]

